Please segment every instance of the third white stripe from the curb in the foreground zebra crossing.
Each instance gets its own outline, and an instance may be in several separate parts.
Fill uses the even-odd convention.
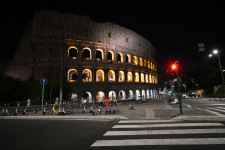
[[[225,133],[225,129],[107,131],[103,136]]]

